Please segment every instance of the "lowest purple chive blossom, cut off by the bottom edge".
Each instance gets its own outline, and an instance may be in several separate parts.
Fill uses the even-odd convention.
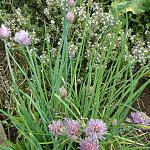
[[[86,138],[84,140],[81,139],[80,142],[80,150],[99,150],[99,145],[97,140],[93,138]]]

